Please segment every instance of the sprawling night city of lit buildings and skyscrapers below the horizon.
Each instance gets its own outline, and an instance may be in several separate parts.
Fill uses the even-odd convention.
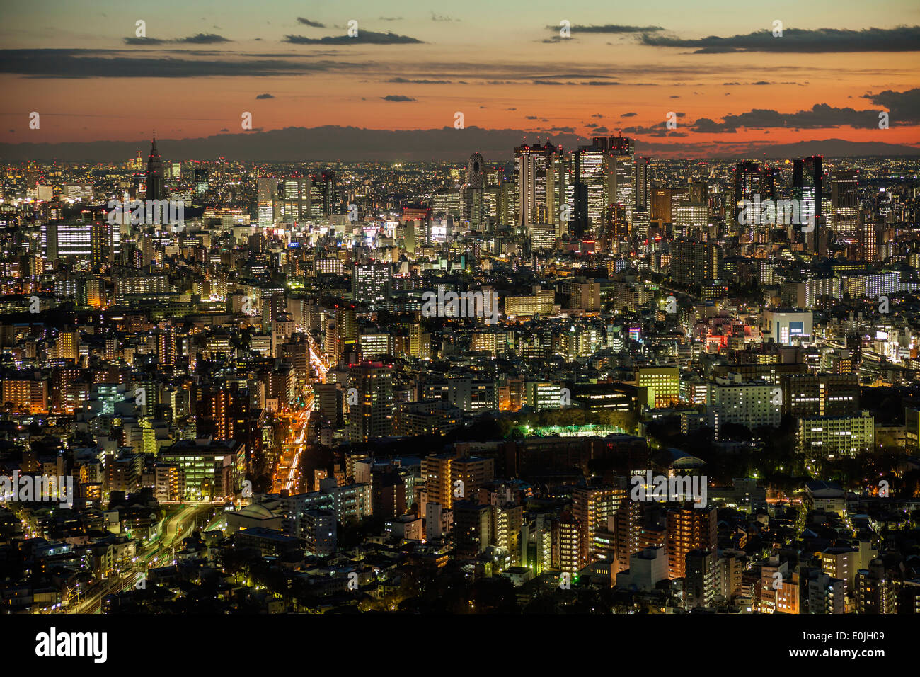
[[[143,150],[0,165],[0,613],[920,613],[920,159]]]

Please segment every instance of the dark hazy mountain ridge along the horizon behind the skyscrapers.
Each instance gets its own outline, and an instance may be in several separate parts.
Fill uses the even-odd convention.
[[[191,139],[157,138],[156,143],[161,155],[171,161],[208,160],[219,157],[253,162],[459,161],[468,158],[474,152],[481,153],[488,161],[504,161],[512,158],[512,148],[519,146],[523,140],[535,142],[539,139],[542,142],[546,138],[553,144],[567,149],[591,143],[591,139],[580,134],[538,134],[523,130],[483,129],[475,126],[462,130],[443,127],[393,131],[337,125],[287,127],[239,134],[214,134]],[[711,152],[701,152],[704,146],[711,148]],[[65,162],[123,162],[136,156],[138,150],[146,157],[149,147],[148,141],[0,144],[0,161],[57,159]],[[682,148],[686,149],[685,154]],[[699,143],[668,143],[665,146],[655,141],[643,143],[638,140],[636,150],[640,154],[652,156],[690,158],[920,156],[920,147],[875,141],[846,141],[838,138],[779,145],[740,144],[732,145],[731,150]]]

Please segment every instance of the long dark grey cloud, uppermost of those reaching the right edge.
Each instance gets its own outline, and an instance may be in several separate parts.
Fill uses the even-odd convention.
[[[769,29],[746,35],[684,39],[668,35],[642,35],[643,44],[655,47],[696,47],[697,54],[730,52],[920,52],[920,26],[895,29],[786,29],[773,37]]]

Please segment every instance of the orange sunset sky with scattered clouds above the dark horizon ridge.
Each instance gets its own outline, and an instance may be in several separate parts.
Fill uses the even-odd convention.
[[[244,111],[261,130],[432,129],[461,111],[467,127],[622,130],[658,150],[827,138],[917,146],[918,24],[920,4],[907,0],[6,0],[0,142],[236,133]],[[40,129],[29,128],[31,111]]]

